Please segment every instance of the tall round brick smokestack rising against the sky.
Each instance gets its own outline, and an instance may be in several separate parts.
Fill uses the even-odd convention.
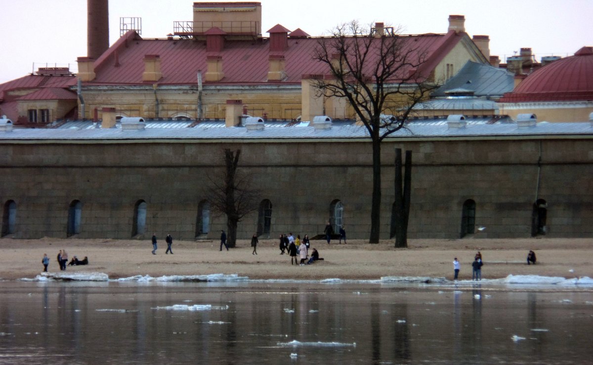
[[[109,1],[87,0],[87,56],[99,58],[109,48]]]

